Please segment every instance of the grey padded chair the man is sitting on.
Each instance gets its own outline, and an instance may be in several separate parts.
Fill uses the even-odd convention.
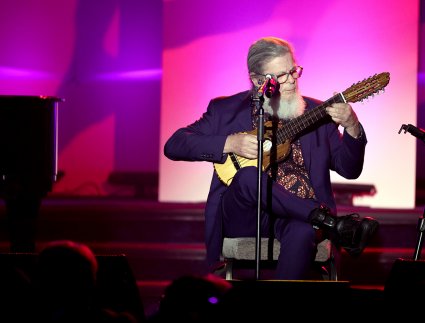
[[[233,279],[233,270],[236,268],[255,268],[255,242],[254,237],[224,238],[222,257],[226,280]],[[268,238],[261,238],[261,267],[274,268],[280,252],[280,242],[273,241],[273,259],[268,257]],[[314,265],[320,267],[324,280],[338,280],[338,268],[336,265],[336,247],[329,239],[324,239],[317,245]]]

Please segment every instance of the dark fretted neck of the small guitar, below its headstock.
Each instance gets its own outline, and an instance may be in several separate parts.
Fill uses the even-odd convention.
[[[342,103],[345,99],[341,93],[336,94],[332,98],[326,100],[321,105],[314,109],[307,110],[304,114],[299,117],[292,119],[284,124],[282,128],[279,128],[276,132],[277,143],[281,144],[288,139],[294,138],[296,135],[301,133],[303,130],[312,126],[316,122],[325,118],[328,114],[326,113],[326,107],[333,103]]]

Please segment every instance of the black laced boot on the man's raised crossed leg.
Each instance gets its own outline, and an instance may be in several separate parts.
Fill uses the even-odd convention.
[[[326,206],[314,209],[310,222],[316,229],[329,233],[333,243],[343,247],[350,256],[359,256],[379,227],[372,217],[360,218],[357,213],[337,217]]]

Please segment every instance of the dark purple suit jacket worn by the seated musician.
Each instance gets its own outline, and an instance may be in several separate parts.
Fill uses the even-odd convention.
[[[308,97],[304,99],[307,109],[322,103]],[[330,170],[347,179],[359,177],[367,140],[363,129],[362,136],[354,139],[345,132],[341,134],[330,118],[324,118],[319,123],[300,137],[301,149],[317,199],[336,214]],[[178,129],[168,139],[164,154],[171,160],[223,163],[227,158],[227,155],[223,155],[227,136],[251,129],[250,91],[215,98],[199,120]],[[205,243],[210,265],[220,259],[223,237],[218,208],[221,194],[226,188],[214,171],[205,207]]]

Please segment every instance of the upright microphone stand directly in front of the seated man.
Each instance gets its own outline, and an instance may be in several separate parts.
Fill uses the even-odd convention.
[[[264,97],[258,93],[253,97],[254,104],[258,111],[257,141],[257,235],[255,237],[255,279],[260,279],[261,260],[261,200],[262,200],[262,176],[263,176],[263,141],[264,141]]]

